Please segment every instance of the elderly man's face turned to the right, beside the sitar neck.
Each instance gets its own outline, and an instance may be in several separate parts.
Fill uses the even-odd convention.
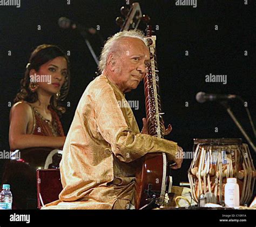
[[[150,53],[144,42],[138,38],[123,38],[120,43],[122,52],[116,58],[114,74],[122,91],[129,92],[136,89],[145,77]]]

